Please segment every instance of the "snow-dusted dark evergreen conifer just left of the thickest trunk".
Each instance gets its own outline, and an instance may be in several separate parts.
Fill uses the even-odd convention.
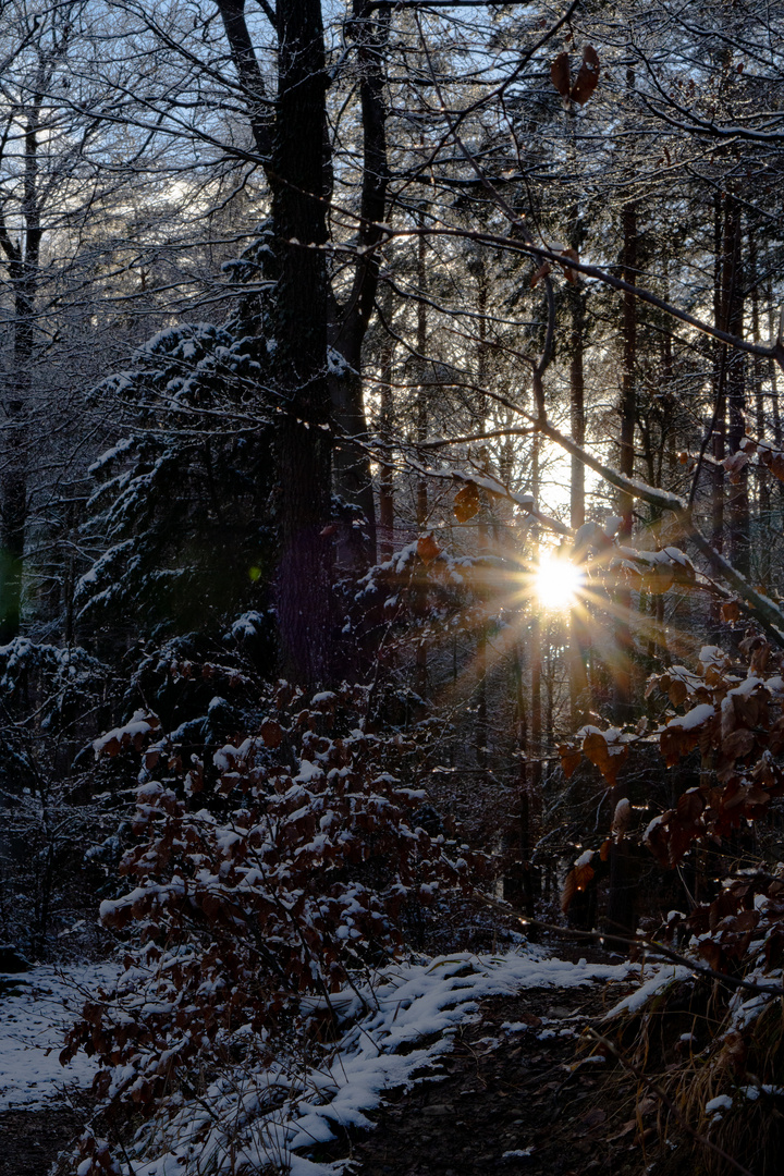
[[[91,467],[82,623],[183,633],[264,608],[274,462],[260,407],[263,354],[263,340],[182,325],[96,389],[127,432]]]

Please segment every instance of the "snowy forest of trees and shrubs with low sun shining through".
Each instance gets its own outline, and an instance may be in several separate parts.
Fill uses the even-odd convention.
[[[166,1118],[522,917],[775,1102],[784,8],[1,16],[0,940],[126,947],[68,1049]]]

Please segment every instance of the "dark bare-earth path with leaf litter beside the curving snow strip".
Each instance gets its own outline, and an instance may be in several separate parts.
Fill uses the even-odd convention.
[[[355,1176],[641,1176],[655,1100],[584,1036],[629,985],[494,997],[461,1027],[442,1081],[390,1093],[353,1149]],[[646,1138],[655,1132],[648,1131]]]

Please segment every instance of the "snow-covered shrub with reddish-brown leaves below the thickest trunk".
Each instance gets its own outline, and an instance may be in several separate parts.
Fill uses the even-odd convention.
[[[361,729],[350,695],[302,707],[283,684],[279,710],[221,748],[212,776],[152,716],[98,741],[109,754],[155,741],[140,751],[139,841],[121,864],[132,884],[101,907],[127,938],[125,971],[65,1051],[98,1055],[115,1109],[152,1114],[199,1091],[240,1029],[262,1053],[286,1030],[290,1048],[330,994],[395,953],[407,904],[463,884],[465,862],[414,820],[424,794],[388,770],[395,741]],[[320,1000],[303,1005],[308,994]]]

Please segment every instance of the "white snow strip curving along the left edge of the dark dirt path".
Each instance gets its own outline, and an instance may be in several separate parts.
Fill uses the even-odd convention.
[[[203,1098],[183,1101],[167,1121],[140,1130],[129,1149],[134,1176],[229,1176],[270,1164],[290,1176],[339,1176],[344,1162],[314,1162],[307,1152],[339,1128],[370,1127],[368,1111],[384,1090],[433,1078],[438,1055],[450,1049],[457,1027],[477,1015],[480,1001],[637,976],[628,962],[569,963],[531,944],[387,968],[371,985],[334,998],[346,1031],[317,1069],[235,1067]]]

